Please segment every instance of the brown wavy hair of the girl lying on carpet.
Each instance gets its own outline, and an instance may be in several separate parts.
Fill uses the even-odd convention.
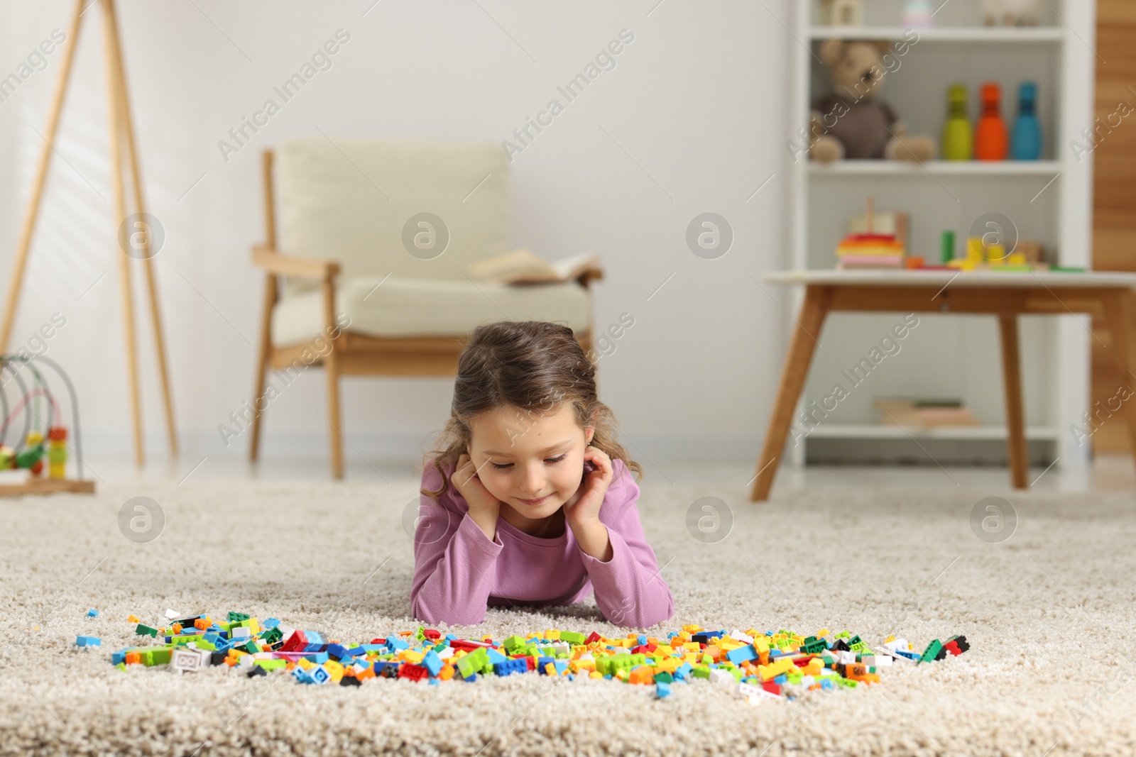
[[[595,389],[595,363],[585,354],[573,330],[548,321],[495,321],[474,329],[458,358],[450,418],[429,455],[442,476],[437,491],[420,493],[437,498],[450,488],[443,462],[456,465],[468,452],[470,423],[486,411],[516,407],[528,417],[556,413],[569,403],[580,428],[592,426],[590,443],[612,461],[643,477],[643,468],[616,440],[616,417],[600,402]]]

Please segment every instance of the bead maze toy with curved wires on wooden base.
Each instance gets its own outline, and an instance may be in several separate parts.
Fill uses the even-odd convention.
[[[74,436],[41,364],[67,389]],[[68,437],[75,446],[75,478],[67,478]],[[94,491],[94,481],[83,478],[75,387],[53,360],[0,354],[0,496],[59,491]]]

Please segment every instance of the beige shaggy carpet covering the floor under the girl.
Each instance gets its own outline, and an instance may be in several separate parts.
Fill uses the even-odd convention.
[[[352,640],[415,628],[402,528],[415,493],[412,482],[191,480],[0,501],[0,754],[1136,752],[1131,495],[1002,493],[1019,522],[991,544],[971,528],[988,491],[819,489],[755,505],[737,487],[644,481],[640,512],[676,606],[653,631],[828,626],[920,647],[962,633],[971,645],[885,670],[879,685],[795,701],[754,707],[707,681],[657,700],[652,687],[535,674],[346,688],[111,666],[112,650],[139,640],[126,617],[167,607],[243,611]],[[151,542],[120,531],[135,496],[164,512]],[[705,496],[733,513],[717,544],[687,527]],[[91,607],[98,617],[85,616]],[[457,632],[551,628],[626,632],[594,604],[492,609]],[[78,634],[101,648],[76,648]]]

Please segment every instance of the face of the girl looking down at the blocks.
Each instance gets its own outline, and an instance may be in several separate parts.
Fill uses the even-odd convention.
[[[579,489],[584,449],[595,432],[582,429],[568,403],[536,415],[506,406],[474,419],[469,456],[477,478],[521,518],[553,514]]]

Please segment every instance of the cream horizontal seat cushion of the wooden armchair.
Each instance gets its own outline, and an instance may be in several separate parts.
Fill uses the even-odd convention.
[[[461,337],[481,323],[506,318],[559,321],[577,335],[590,327],[587,292],[576,281],[508,286],[391,276],[375,288],[379,281],[383,277],[340,277],[335,312],[351,319],[349,331],[375,337]],[[275,346],[308,342],[323,329],[319,289],[281,300],[273,309]]]

